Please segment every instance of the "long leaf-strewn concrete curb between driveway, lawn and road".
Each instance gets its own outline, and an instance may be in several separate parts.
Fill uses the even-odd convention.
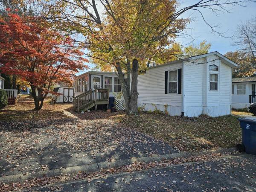
[[[191,156],[200,156],[203,154],[213,154],[213,153],[227,153],[227,152],[235,152],[236,148],[219,148],[215,150],[206,150],[206,151],[201,151],[201,152],[180,152],[180,153],[175,153],[175,154],[164,154],[160,155],[157,157],[134,157],[131,159],[126,159],[126,160],[115,160],[111,162],[100,162],[100,163],[94,163],[90,165],[82,165],[82,166],[72,166],[72,167],[65,167],[62,169],[50,169],[50,170],[45,170],[41,172],[35,172],[35,173],[29,173],[26,175],[23,174],[16,174],[16,175],[6,175],[0,177],[0,182],[2,183],[10,183],[10,182],[23,182],[25,180],[32,179],[34,177],[54,177],[58,175],[65,175],[65,174],[73,174],[77,173],[79,171],[81,172],[97,172],[101,171],[102,169],[111,169],[111,168],[118,168],[121,166],[126,166],[130,165],[131,163],[134,162],[153,162],[153,161],[161,161],[161,160],[172,160],[178,157],[191,157]]]

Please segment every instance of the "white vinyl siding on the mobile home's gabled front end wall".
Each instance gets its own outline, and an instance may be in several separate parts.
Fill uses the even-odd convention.
[[[184,115],[230,114],[231,67],[222,63],[215,55],[207,57],[207,63],[203,58],[196,62],[199,64],[185,62],[184,66]],[[209,70],[212,64],[218,67],[218,71]],[[210,74],[216,75],[213,82],[218,84],[218,90],[210,90]]]

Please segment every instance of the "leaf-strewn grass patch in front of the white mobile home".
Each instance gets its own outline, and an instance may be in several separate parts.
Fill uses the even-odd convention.
[[[140,116],[114,118],[181,151],[229,148],[241,143],[241,128],[236,116],[188,118],[141,113]]]

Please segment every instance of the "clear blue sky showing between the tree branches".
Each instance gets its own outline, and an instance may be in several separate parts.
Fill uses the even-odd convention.
[[[189,6],[193,3],[198,2],[198,0],[179,0],[180,7]],[[228,51],[235,51],[239,47],[233,46],[233,39],[231,38],[236,32],[236,26],[244,21],[250,20],[253,17],[256,17],[256,3],[246,3],[243,6],[229,6],[230,13],[219,12],[218,15],[211,12],[209,9],[203,9],[202,13],[204,14],[205,20],[211,25],[218,25],[216,30],[218,32],[225,32],[223,35],[227,38],[221,37],[218,34],[210,33],[211,29],[204,23],[202,17],[198,12],[191,11],[183,15],[183,17],[191,17],[192,22],[189,23],[188,34],[191,35],[194,39],[192,42],[191,38],[179,39],[178,41],[181,44],[195,44],[198,45],[201,41],[206,40],[208,43],[212,44],[210,51],[218,51],[221,54],[225,54]],[[93,67],[93,64],[88,64],[90,67]],[[87,70],[85,70],[87,71]],[[79,72],[77,75],[84,73]]]

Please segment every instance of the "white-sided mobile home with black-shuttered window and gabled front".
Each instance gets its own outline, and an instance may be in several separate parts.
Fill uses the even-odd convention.
[[[229,115],[232,67],[237,66],[210,52],[149,67],[138,76],[138,106],[171,116]]]

